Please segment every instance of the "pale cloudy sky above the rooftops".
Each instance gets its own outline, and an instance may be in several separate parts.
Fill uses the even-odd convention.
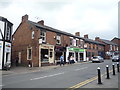
[[[90,39],[111,40],[118,37],[119,0],[0,0],[0,16],[13,25],[13,33],[21,17],[72,34],[80,32]]]

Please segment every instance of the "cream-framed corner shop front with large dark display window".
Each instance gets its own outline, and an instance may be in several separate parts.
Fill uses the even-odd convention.
[[[49,66],[54,64],[54,46],[42,44],[39,48],[39,66]]]

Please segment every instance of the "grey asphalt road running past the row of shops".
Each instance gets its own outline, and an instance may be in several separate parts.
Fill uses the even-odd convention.
[[[112,69],[112,63],[111,60],[105,60],[103,63],[77,63],[38,72],[3,76],[2,86],[3,88],[70,88],[97,76],[98,66],[104,74],[105,66],[109,65]]]

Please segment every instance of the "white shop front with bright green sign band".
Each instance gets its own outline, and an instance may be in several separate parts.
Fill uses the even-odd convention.
[[[66,49],[66,61],[73,56],[75,62],[78,61],[86,61],[86,51],[85,49],[75,48],[75,47],[67,47]]]

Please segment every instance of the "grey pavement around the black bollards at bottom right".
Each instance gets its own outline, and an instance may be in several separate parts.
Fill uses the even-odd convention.
[[[98,84],[98,79],[96,79],[80,88],[119,88],[120,89],[118,84],[119,76],[120,76],[120,73],[117,73],[117,71],[116,71],[116,75],[112,75],[112,72],[111,72],[110,79],[106,79],[106,75],[103,75],[101,77],[102,84]]]

